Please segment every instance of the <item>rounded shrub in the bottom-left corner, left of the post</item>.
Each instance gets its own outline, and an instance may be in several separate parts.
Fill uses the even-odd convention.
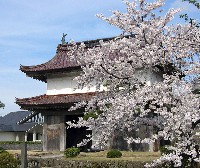
[[[18,160],[7,151],[0,153],[0,168],[16,168],[18,163]]]

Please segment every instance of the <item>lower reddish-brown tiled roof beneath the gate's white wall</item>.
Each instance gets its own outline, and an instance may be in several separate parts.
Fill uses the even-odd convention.
[[[94,92],[89,93],[75,93],[75,94],[59,94],[59,95],[40,95],[31,98],[16,99],[16,104],[21,106],[22,109],[39,109],[57,108],[58,106],[66,107],[75,102],[88,101],[94,96]]]

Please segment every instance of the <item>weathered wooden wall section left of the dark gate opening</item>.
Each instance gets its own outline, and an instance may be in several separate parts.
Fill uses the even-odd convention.
[[[45,115],[43,126],[43,150],[64,151],[66,131],[64,115]]]

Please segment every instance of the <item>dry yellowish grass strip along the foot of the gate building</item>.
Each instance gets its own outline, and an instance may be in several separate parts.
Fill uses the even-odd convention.
[[[21,153],[20,150],[7,150],[12,154]],[[129,161],[143,161],[149,162],[155,160],[160,157],[160,152],[129,152],[129,151],[121,151],[121,158],[106,158],[106,154],[108,151],[101,152],[81,152],[80,155],[74,158],[65,158],[63,152],[44,152],[44,151],[28,151],[27,154],[29,157],[42,157],[42,156],[52,156],[52,155],[60,155],[63,154],[62,159],[66,160],[91,160],[91,161],[103,161],[103,160],[129,160]]]

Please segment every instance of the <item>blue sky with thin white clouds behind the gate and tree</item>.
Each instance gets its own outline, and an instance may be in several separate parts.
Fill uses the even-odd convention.
[[[200,20],[199,10],[182,0],[167,0],[168,8],[184,8],[182,13]],[[0,116],[19,111],[15,98],[46,93],[46,83],[26,77],[21,65],[37,65],[50,60],[61,43],[117,36],[119,29],[95,15],[124,11],[121,0],[0,0]],[[174,22],[183,22],[175,19]]]

